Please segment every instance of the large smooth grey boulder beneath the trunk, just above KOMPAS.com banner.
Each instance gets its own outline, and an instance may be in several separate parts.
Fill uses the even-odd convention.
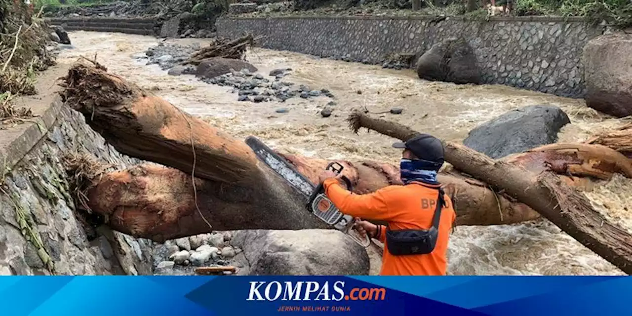
[[[334,229],[237,231],[233,245],[243,249],[250,274],[367,275],[367,251]]]

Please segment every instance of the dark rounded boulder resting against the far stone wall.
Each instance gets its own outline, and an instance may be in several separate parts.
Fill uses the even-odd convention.
[[[434,44],[416,62],[419,78],[454,83],[480,83],[474,50],[464,39],[450,38]]]

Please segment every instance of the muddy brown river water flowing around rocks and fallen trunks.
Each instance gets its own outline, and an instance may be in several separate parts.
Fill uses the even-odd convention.
[[[248,61],[267,75],[276,68],[292,68],[284,80],[313,89],[327,88],[335,96],[331,117],[322,118],[329,97],[293,98],[284,103],[238,102],[229,87],[198,81],[194,76],[169,76],[153,64],[147,66],[145,50],[161,40],[121,33],[73,32],[73,49],[64,49],[59,63],[73,63],[79,56],[94,57],[109,71],[138,83],[175,106],[204,117],[209,123],[243,139],[255,135],[270,147],[325,159],[374,159],[398,162],[392,139],[348,130],[346,118],[354,107],[371,112],[401,107],[403,114],[380,114],[445,140],[461,141],[475,126],[511,109],[535,104],[559,106],[571,125],[559,134],[560,142],[580,142],[594,133],[623,125],[585,107],[581,99],[566,99],[502,85],[454,85],[419,80],[410,70],[383,70],[380,66],[345,63],[285,51],[252,49]],[[202,39],[174,39],[191,44]],[[360,93],[361,92],[361,93]],[[279,107],[286,114],[275,112]],[[602,212],[632,228],[632,181],[619,176],[586,193]],[[631,229],[632,230],[632,229]],[[449,274],[623,274],[550,222],[541,220],[489,227],[459,226],[451,237]]]

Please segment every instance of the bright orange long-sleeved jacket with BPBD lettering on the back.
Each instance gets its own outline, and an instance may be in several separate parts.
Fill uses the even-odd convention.
[[[436,207],[438,185],[413,182],[391,185],[371,194],[356,195],[343,188],[337,179],[326,179],[325,194],[336,207],[353,217],[386,221],[391,229],[429,229]],[[386,228],[381,227],[379,240],[384,243],[381,276],[444,276],[447,268],[447,240],[456,213],[452,200],[444,195],[439,236],[432,253],[394,256],[386,246]]]

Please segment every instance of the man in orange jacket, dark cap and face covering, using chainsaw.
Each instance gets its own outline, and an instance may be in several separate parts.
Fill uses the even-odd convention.
[[[320,175],[325,194],[344,214],[388,223],[356,222],[360,233],[385,243],[380,275],[443,276],[456,218],[452,201],[437,182],[444,162],[443,146],[437,138],[422,134],[393,147],[404,149],[400,162],[404,185],[356,195],[341,186],[340,176],[325,171]]]

